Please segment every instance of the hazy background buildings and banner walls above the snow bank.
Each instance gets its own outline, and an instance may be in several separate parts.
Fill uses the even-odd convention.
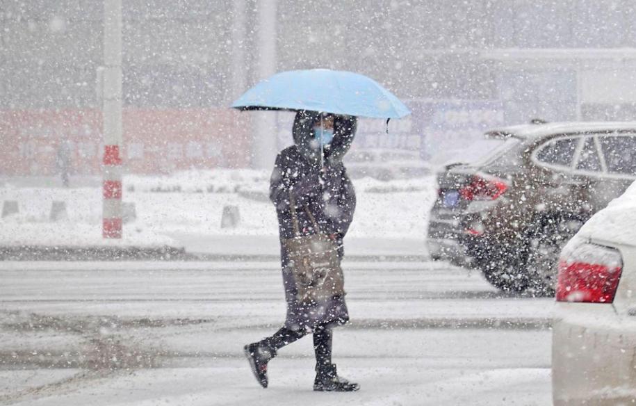
[[[283,70],[395,92],[413,115],[389,136],[363,120],[354,147],[402,160],[466,156],[485,129],[535,118],[628,120],[635,15],[628,0],[124,1],[127,172],[269,168],[292,117],[228,106]],[[63,143],[74,174],[100,173],[103,19],[97,0],[0,1],[0,174],[54,174]]]

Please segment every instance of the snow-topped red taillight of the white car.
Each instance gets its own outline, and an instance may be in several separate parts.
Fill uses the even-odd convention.
[[[565,247],[558,267],[557,302],[614,302],[623,272],[618,250],[591,243]]]

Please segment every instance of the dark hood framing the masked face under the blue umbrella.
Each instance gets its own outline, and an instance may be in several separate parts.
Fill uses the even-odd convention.
[[[318,111],[298,111],[292,129],[294,143],[300,154],[316,164],[320,162],[320,146],[313,142],[313,127],[319,122],[321,114]],[[325,162],[328,165],[341,163],[355,137],[357,122],[357,117],[352,115],[334,115],[334,140],[325,149]]]

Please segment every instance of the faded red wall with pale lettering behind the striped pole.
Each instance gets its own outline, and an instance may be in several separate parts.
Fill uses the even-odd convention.
[[[122,119],[129,173],[250,165],[250,121],[238,111],[127,108]],[[71,145],[71,173],[99,174],[101,125],[100,110],[0,111],[0,174],[56,174],[63,140]]]

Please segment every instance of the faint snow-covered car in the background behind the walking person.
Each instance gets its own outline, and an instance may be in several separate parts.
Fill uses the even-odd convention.
[[[432,172],[418,152],[404,149],[354,149],[345,156],[345,165],[354,179],[372,177],[388,181],[424,177]]]

